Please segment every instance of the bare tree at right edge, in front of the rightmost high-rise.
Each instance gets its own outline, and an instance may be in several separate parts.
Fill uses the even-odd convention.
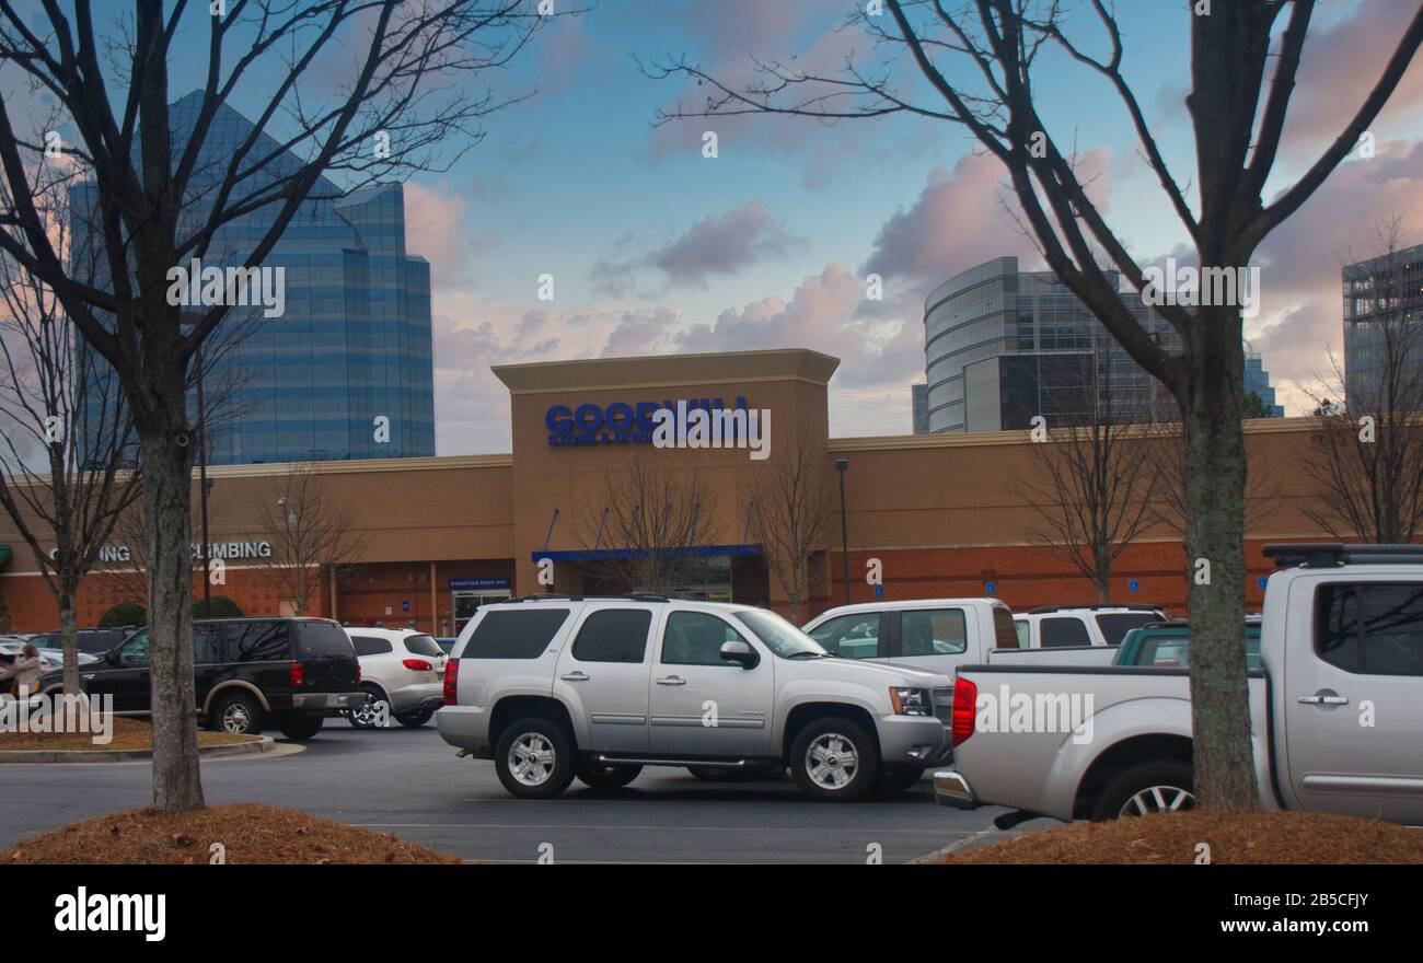
[[[1423,317],[1416,260],[1402,256],[1402,220],[1379,226],[1379,256],[1346,290],[1362,310],[1345,323],[1363,344],[1333,390],[1343,404],[1318,403],[1305,477],[1316,498],[1305,515],[1339,539],[1400,543],[1423,533]],[[1413,270],[1410,270],[1413,267]],[[1363,370],[1360,370],[1363,368]]]

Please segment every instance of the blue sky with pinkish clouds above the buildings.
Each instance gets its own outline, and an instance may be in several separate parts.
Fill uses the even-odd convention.
[[[1221,3],[1222,0],[1215,0]],[[572,0],[555,0],[571,6]],[[1069,30],[1101,34],[1086,3]],[[1184,107],[1184,0],[1118,3],[1124,68],[1177,179],[1192,181]],[[1010,215],[998,162],[943,121],[895,115],[834,125],[787,117],[673,121],[659,108],[704,91],[655,80],[643,63],[686,57],[716,77],[750,58],[835,70],[884,55],[844,27],[855,0],[598,0],[556,17],[507,71],[482,75],[529,97],[488,117],[450,171],[406,185],[407,246],[431,262],[437,451],[509,449],[509,398],[491,364],[692,351],[810,347],[841,358],[830,384],[837,437],[911,431],[924,381],[924,296],[988,259],[1042,267]],[[1286,188],[1343,128],[1417,0],[1325,0],[1269,195]],[[175,97],[201,84],[201,44],[169,64]],[[933,105],[918,74],[902,92]],[[1185,233],[1140,156],[1111,91],[1062,54],[1039,65],[1040,110],[1076,144],[1091,191],[1147,263],[1181,255]],[[242,104],[235,104],[242,108]],[[717,156],[703,134],[717,134]],[[1423,63],[1370,129],[1373,156],[1350,156],[1261,246],[1262,307],[1251,346],[1289,414],[1342,347],[1339,269],[1376,253],[1382,218],[1423,243]],[[865,299],[865,276],[884,300]],[[539,277],[554,299],[539,300]]]

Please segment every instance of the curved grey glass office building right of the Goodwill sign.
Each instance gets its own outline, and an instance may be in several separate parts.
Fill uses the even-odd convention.
[[[1113,277],[1116,275],[1113,273]],[[1175,330],[1123,300],[1167,350]],[[1035,415],[1081,424],[1174,417],[1170,393],[1113,340],[1052,272],[995,257],[951,277],[924,304],[929,431],[1022,430]]]

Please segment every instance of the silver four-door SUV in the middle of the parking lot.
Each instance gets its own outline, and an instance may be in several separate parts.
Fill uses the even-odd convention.
[[[766,609],[656,596],[482,606],[444,679],[440,735],[517,797],[645,765],[770,768],[813,799],[902,791],[948,758],[946,676],[840,659]]]

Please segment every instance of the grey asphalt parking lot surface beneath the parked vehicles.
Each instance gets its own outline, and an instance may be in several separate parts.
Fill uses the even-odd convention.
[[[0,848],[145,805],[149,778],[147,762],[0,767]],[[788,778],[714,785],[647,768],[626,789],[575,782],[556,799],[521,801],[491,762],[455,758],[433,723],[360,733],[327,720],[305,751],[209,760],[202,781],[209,804],[295,807],[490,862],[535,862],[542,852],[555,862],[862,863],[878,852],[892,863],[1006,835],[992,825],[999,809],[935,805],[928,778],[894,799],[832,805],[807,802]]]

